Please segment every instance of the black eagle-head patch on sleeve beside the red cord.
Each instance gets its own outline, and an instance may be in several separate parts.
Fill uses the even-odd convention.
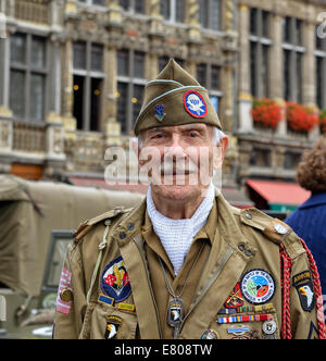
[[[311,312],[315,308],[316,297],[310,271],[296,274],[292,277],[292,285],[298,291],[302,309]]]

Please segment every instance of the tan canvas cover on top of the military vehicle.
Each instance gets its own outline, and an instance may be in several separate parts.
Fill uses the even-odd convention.
[[[0,175],[0,283],[38,296],[53,229],[76,229],[86,220],[115,207],[133,207],[142,197]]]

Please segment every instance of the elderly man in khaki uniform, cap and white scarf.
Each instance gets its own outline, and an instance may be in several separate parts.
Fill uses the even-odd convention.
[[[324,338],[318,273],[289,226],[230,207],[211,179],[227,137],[208,91],[171,60],[135,125],[146,200],[83,224],[55,338]]]

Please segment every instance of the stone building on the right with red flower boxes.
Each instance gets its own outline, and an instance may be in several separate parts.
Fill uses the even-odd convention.
[[[238,180],[242,185],[253,180],[252,191],[259,191],[256,178],[293,182],[303,150],[321,136],[318,126],[310,132],[291,129],[286,121],[286,102],[309,105],[316,114],[326,108],[325,11],[323,0],[239,0],[235,136]],[[253,99],[264,97],[283,110],[275,129],[261,127],[251,116]],[[281,190],[284,185],[279,187]]]

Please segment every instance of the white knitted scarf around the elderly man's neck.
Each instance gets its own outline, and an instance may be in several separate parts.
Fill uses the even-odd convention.
[[[148,215],[152,222],[155,234],[160,237],[173,264],[175,275],[178,274],[184,264],[193,237],[206,223],[211,209],[213,208],[214,197],[215,189],[213,184],[211,184],[205,198],[191,219],[172,220],[156,210],[152,199],[151,187],[149,187],[147,192]]]

